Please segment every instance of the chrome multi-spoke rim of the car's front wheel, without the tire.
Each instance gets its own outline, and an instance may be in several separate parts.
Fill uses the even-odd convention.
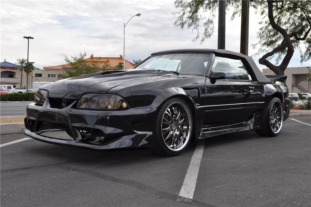
[[[192,117],[182,102],[171,103],[165,110],[161,122],[162,138],[172,151],[180,151],[190,140]]]

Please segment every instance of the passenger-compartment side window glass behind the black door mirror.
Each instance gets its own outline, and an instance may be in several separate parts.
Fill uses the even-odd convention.
[[[251,79],[241,60],[225,57],[215,57],[211,70],[213,72],[225,73],[227,77],[226,79],[229,80]]]

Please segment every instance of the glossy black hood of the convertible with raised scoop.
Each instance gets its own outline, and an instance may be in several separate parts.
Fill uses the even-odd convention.
[[[159,79],[176,76],[170,72],[157,72],[153,69],[131,69],[107,71],[82,75],[74,78],[59,80],[42,86],[49,91],[49,97],[79,99],[85,93],[107,93],[119,85],[131,86]]]

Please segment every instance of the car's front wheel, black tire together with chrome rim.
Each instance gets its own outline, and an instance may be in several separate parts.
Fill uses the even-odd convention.
[[[170,110],[174,112],[171,115],[169,115]],[[178,116],[178,114],[180,115]],[[178,97],[170,98],[160,106],[154,120],[153,138],[155,145],[150,150],[158,155],[179,155],[188,147],[192,131],[193,117],[187,102]]]

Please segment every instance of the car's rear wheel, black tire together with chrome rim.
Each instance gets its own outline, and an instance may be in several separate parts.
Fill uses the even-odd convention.
[[[276,107],[280,107],[278,109],[278,113],[273,113],[272,107],[276,105]],[[279,116],[281,114],[281,116]],[[278,117],[280,119],[278,119]],[[277,136],[281,128],[283,126],[283,119],[284,119],[284,111],[283,111],[283,105],[279,98],[272,98],[266,106],[262,110],[262,128],[255,130],[257,134],[265,137],[275,137]],[[277,121],[275,121],[277,120]],[[277,124],[279,121],[279,127],[277,127]],[[274,124],[273,124],[274,123]],[[275,127],[274,127],[275,126]],[[272,129],[273,128],[273,129]]]

